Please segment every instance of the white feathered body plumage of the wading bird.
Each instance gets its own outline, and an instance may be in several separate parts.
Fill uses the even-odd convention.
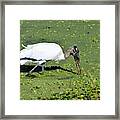
[[[64,60],[64,53],[62,48],[56,43],[37,43],[27,45],[27,47],[20,51],[20,64],[23,65],[28,61],[25,58],[36,59],[39,64],[47,60]]]

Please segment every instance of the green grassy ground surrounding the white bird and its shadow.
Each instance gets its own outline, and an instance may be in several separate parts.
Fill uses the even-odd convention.
[[[21,100],[99,100],[100,99],[100,21],[98,20],[21,20],[20,44],[54,42],[63,50],[77,45],[81,75],[62,70],[20,73]],[[22,46],[21,46],[21,49]],[[50,61],[76,72],[74,60]]]

